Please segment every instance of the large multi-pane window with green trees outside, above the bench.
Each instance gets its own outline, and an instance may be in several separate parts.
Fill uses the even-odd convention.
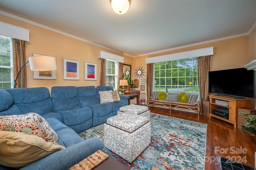
[[[154,63],[153,91],[199,95],[198,57]]]

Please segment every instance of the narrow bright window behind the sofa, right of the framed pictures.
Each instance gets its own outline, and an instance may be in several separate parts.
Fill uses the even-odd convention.
[[[118,62],[106,59],[106,86],[112,86],[117,90]]]

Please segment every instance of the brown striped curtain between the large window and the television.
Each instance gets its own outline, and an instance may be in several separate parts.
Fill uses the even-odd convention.
[[[208,100],[208,72],[211,69],[212,55],[198,57],[198,86],[200,95],[200,111],[203,101]]]

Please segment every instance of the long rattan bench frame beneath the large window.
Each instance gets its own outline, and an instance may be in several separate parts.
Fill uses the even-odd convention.
[[[196,103],[180,103],[173,101],[157,100],[151,96],[148,98],[148,109],[149,107],[170,109],[170,115],[172,110],[197,113],[198,116],[200,114],[200,101],[196,101]],[[185,108],[186,110],[182,108]]]

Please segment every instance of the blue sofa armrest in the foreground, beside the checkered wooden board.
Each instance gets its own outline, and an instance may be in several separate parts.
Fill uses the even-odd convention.
[[[103,148],[102,140],[96,137],[89,138],[24,166],[21,170],[67,170]]]

